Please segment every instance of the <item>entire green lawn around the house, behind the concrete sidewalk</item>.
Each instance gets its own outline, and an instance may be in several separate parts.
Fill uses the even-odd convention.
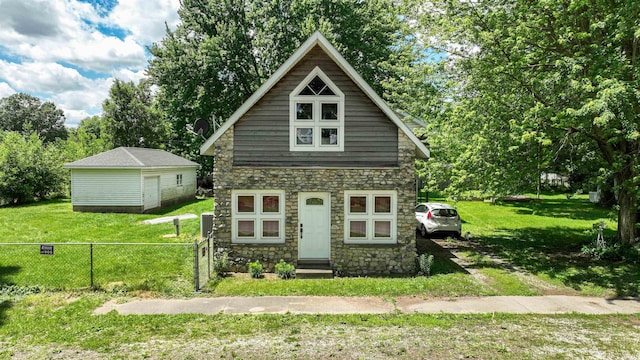
[[[433,200],[433,199],[432,199]],[[438,199],[436,199],[438,200]],[[440,199],[442,200],[442,199]],[[373,277],[334,280],[250,280],[231,276],[212,281],[207,295],[539,295],[580,293],[587,295],[636,295],[640,266],[595,261],[581,255],[582,244],[591,241],[592,225],[607,221],[607,236],[615,234],[610,211],[593,206],[586,196],[567,199],[546,195],[542,202],[491,204],[458,202],[473,246],[459,251],[476,274],[454,263],[448,252],[424,245],[421,252],[436,255],[430,278]],[[188,295],[192,288],[193,238],[199,220],[183,220],[180,237],[172,223],[142,225],[157,216],[211,211],[213,201],[198,200],[158,214],[74,213],[68,200],[55,200],[22,207],[0,208],[0,242],[23,243],[175,243],[168,245],[94,246],[94,281],[107,290],[143,290]],[[43,285],[46,288],[88,287],[89,249],[86,245],[56,246],[54,257],[39,255],[37,246],[3,246],[0,252],[0,282]],[[533,274],[523,278],[485,255],[497,256]],[[33,264],[37,266],[33,266]],[[533,278],[533,280],[532,280]]]

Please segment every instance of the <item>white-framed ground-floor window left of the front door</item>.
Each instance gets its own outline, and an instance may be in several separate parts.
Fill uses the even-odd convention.
[[[284,191],[234,190],[231,206],[233,243],[284,242]]]

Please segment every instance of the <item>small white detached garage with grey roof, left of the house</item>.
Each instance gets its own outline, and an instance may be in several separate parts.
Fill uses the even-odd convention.
[[[73,211],[143,213],[195,198],[198,164],[164,150],[119,147],[64,167]]]

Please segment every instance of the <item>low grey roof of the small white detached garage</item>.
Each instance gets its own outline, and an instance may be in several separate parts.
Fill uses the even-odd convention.
[[[159,149],[119,147],[65,164],[67,169],[198,167],[198,163]]]

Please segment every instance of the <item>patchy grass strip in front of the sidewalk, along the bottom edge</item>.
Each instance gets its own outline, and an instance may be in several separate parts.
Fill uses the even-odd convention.
[[[101,294],[0,301],[0,358],[637,358],[640,315],[92,315]]]

